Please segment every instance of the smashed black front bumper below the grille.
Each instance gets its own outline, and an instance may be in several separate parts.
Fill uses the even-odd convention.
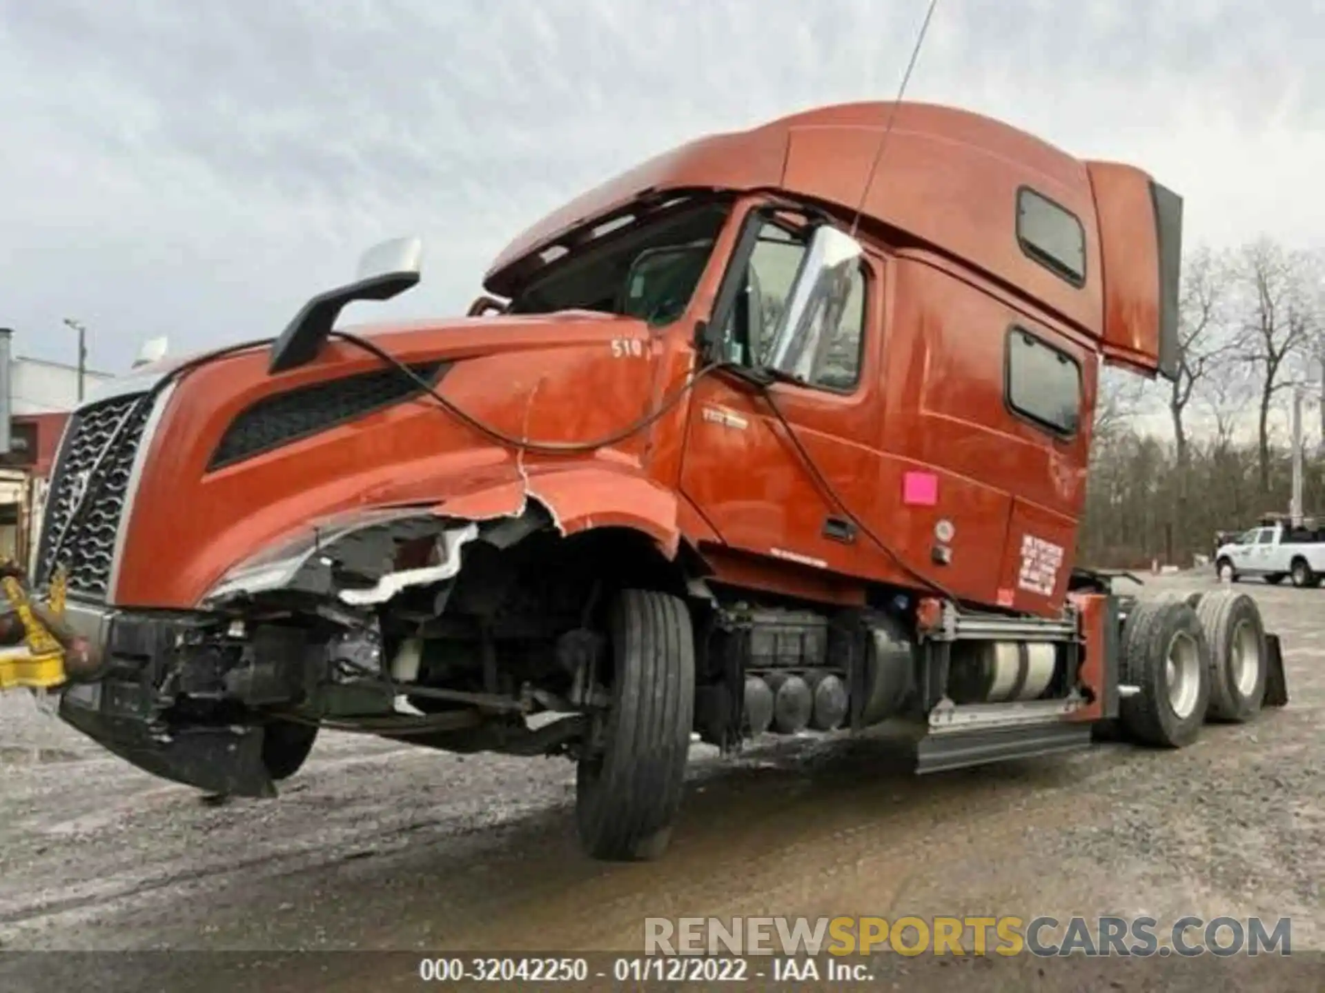
[[[261,726],[167,720],[167,681],[187,617],[106,610],[70,601],[69,625],[101,647],[105,675],[70,685],[60,718],[138,768],[175,782],[235,796],[270,797]]]

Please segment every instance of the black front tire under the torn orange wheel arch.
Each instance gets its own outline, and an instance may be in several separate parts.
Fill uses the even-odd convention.
[[[584,851],[607,862],[659,858],[668,846],[694,723],[694,636],[685,602],[623,591],[611,605],[612,704],[575,776]]]

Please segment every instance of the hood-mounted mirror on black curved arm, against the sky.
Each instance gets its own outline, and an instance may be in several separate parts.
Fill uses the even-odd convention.
[[[286,372],[313,361],[347,305],[399,297],[417,285],[421,271],[421,238],[396,238],[368,249],[359,258],[355,282],[318,294],[294,315],[272,346],[268,372]]]

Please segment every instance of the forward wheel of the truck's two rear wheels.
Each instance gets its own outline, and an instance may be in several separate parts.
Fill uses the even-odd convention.
[[[1118,703],[1134,741],[1182,748],[1196,740],[1210,707],[1210,645],[1186,600],[1138,601],[1122,632],[1121,679],[1140,692]]]

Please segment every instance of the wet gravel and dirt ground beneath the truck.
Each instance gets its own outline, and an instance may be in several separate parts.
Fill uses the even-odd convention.
[[[559,760],[331,733],[278,800],[208,806],[26,696],[0,698],[0,948],[396,949],[413,961],[421,949],[640,949],[645,916],[1261,915],[1293,919],[1292,960],[886,956],[873,988],[1321,989],[1325,591],[1240,588],[1283,637],[1281,711],[1207,727],[1181,752],[1101,744],[924,779],[871,739],[727,761],[697,749],[670,851],[633,866],[578,854],[574,772]],[[56,988],[68,960],[0,957],[0,988]],[[89,988],[238,988],[216,957],[94,961]],[[249,988],[412,988],[413,972],[387,974],[384,959],[329,961],[292,957]]]

